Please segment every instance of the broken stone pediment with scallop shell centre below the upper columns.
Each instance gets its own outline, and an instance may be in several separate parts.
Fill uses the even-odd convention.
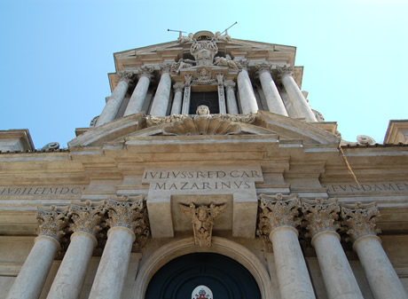
[[[71,140],[68,147],[103,146],[106,143],[125,142],[125,138],[177,136],[268,135],[277,140],[302,140],[303,144],[338,144],[340,138],[320,129],[318,124],[291,119],[279,114],[258,111],[257,114],[209,114],[145,116],[131,114],[114,122],[107,122],[84,131]],[[174,142],[174,140],[172,141]]]

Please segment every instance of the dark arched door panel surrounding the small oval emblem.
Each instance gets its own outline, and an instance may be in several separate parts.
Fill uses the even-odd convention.
[[[208,287],[215,299],[261,299],[254,277],[244,266],[214,253],[194,253],[171,260],[154,274],[145,299],[190,299],[200,286]]]

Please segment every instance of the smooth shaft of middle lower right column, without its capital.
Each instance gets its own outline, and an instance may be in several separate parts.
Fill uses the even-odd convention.
[[[336,232],[319,232],[312,239],[329,299],[364,299]]]

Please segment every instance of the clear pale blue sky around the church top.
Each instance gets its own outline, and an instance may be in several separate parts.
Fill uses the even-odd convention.
[[[404,0],[2,0],[0,130],[67,147],[110,95],[114,52],[238,21],[232,38],[297,47],[302,90],[344,139],[382,143],[390,119],[408,119],[407,12]]]

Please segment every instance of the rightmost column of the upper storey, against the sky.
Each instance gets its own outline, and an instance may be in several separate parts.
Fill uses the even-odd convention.
[[[299,117],[304,117],[307,122],[317,122],[316,116],[313,114],[313,111],[311,111],[308,101],[303,97],[302,91],[297,83],[294,82],[294,68],[277,67],[277,70],[296,114],[298,114]]]

